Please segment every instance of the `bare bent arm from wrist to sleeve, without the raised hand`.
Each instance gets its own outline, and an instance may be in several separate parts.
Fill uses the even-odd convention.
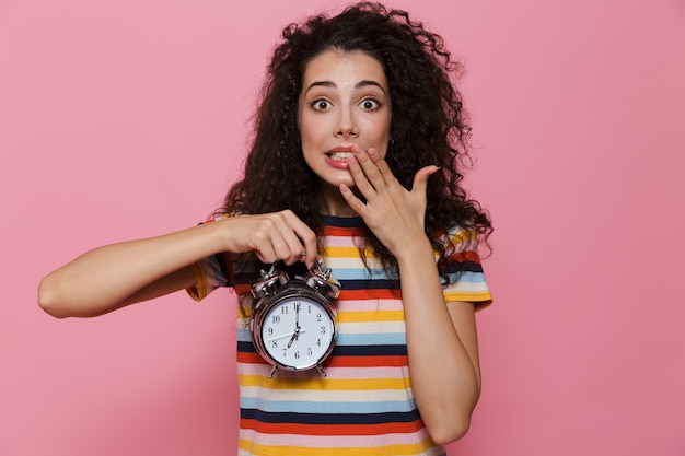
[[[475,307],[445,305],[432,246],[407,243],[397,257],[411,387],[436,443],[461,439],[480,395]]]

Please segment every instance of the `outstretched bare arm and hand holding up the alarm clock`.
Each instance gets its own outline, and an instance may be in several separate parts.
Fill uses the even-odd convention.
[[[310,265],[317,255],[316,236],[291,211],[282,211],[237,215],[162,236],[106,245],[43,279],[38,304],[59,318],[102,315],[194,285],[190,266],[216,253],[253,250],[265,262]]]

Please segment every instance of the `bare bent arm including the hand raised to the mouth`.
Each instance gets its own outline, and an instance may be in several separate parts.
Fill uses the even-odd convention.
[[[399,267],[409,375],[431,439],[462,437],[480,394],[474,305],[445,304],[432,245],[425,233],[426,184],[437,167],[420,169],[406,190],[387,163],[370,149],[356,150],[350,172],[365,202],[340,191]]]

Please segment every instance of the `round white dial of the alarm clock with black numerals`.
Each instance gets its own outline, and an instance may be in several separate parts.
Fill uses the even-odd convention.
[[[286,297],[272,306],[262,323],[264,349],[279,364],[310,369],[328,354],[335,323],[323,304],[304,297]]]

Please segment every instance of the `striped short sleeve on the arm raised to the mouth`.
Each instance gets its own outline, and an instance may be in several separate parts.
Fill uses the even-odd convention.
[[[441,266],[441,280],[446,302],[463,301],[483,309],[492,303],[480,256],[475,250],[476,235],[454,229],[449,234],[454,249]]]

